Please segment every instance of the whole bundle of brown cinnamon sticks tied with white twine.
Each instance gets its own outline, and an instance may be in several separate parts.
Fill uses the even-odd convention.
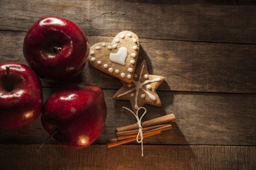
[[[171,129],[172,122],[175,122],[176,118],[174,114],[164,115],[159,118],[154,118],[151,120],[146,120],[142,122],[143,137],[149,137],[153,135],[160,134],[163,130]],[[134,123],[132,125],[127,125],[117,128],[116,138],[107,140],[107,147],[115,147],[128,142],[137,140],[137,134],[139,132],[139,125]],[[139,136],[139,140],[140,140]]]

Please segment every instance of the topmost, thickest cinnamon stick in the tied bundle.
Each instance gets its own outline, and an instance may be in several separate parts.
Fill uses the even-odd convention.
[[[147,128],[154,125],[162,125],[162,124],[171,123],[175,121],[176,121],[176,118],[174,114],[164,115],[159,118],[154,118],[154,119],[146,120],[142,122],[142,128]],[[132,125],[127,125],[127,126],[117,128],[117,132],[122,132],[127,130],[136,130],[138,128],[139,128],[138,123],[134,123]]]

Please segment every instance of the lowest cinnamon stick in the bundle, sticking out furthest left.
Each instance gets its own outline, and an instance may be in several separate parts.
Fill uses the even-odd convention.
[[[154,133],[151,133],[149,135],[143,135],[143,137],[150,137],[150,136],[153,136],[153,135],[157,135],[157,134],[160,134],[161,131],[156,131]],[[141,137],[139,136],[139,140],[141,139]],[[117,140],[117,138],[113,138],[113,139],[110,139],[110,140],[107,140],[107,147],[116,147],[118,145],[122,145],[122,144],[125,144],[125,143],[128,143],[128,142],[132,142],[132,141],[135,141],[137,140],[137,137],[131,137],[131,138],[128,138],[128,139],[125,139],[125,140]]]

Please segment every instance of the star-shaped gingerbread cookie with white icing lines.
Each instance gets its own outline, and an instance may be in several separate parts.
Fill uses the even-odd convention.
[[[149,74],[144,60],[135,70],[132,82],[121,81],[123,86],[114,94],[113,98],[130,101],[134,111],[145,104],[160,107],[161,101],[156,94],[156,89],[163,81],[164,77]]]

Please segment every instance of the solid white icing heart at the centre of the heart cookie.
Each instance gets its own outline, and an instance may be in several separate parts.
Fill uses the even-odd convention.
[[[127,54],[127,47],[120,47],[117,53],[110,53],[110,61],[117,64],[125,65]]]

